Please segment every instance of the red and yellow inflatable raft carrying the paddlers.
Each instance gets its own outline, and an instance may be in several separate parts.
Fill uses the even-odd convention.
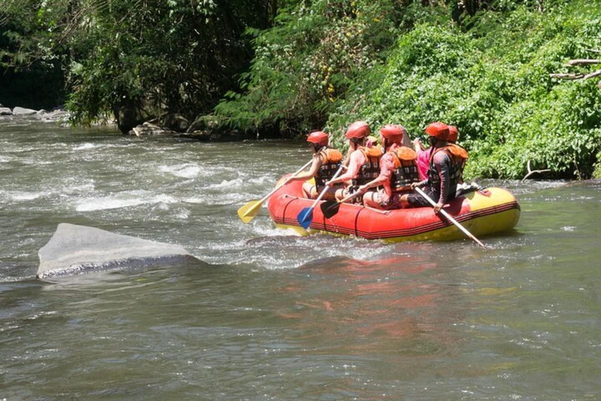
[[[510,230],[520,216],[516,198],[505,189],[489,188],[488,191],[486,195],[476,191],[457,197],[444,209],[477,237]],[[297,222],[297,215],[304,207],[311,207],[314,201],[302,195],[302,182],[294,181],[279,188],[269,198],[267,209],[276,227],[292,228],[301,235],[321,231],[387,242],[465,237],[453,223],[436,215],[432,207],[385,211],[342,204],[336,215],[326,219],[317,204],[310,228],[305,230]]]

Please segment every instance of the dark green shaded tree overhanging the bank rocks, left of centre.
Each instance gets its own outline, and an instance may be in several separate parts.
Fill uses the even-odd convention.
[[[240,34],[249,24],[263,26],[264,11],[248,0],[121,0],[94,8],[85,35],[72,42],[82,54],[70,70],[69,109],[83,123],[132,106],[191,118],[209,111],[248,63]]]

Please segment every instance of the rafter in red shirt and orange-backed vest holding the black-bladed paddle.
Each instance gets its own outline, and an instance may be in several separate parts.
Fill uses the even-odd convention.
[[[401,197],[411,191],[411,183],[419,179],[417,155],[404,146],[407,131],[403,126],[388,124],[380,128],[380,141],[386,148],[380,159],[380,174],[376,179],[359,187],[359,192],[381,187],[363,195],[365,206],[376,209],[400,209]]]

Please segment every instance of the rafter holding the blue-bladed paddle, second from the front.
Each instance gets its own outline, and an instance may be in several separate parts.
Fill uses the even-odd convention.
[[[345,189],[336,191],[338,200],[352,194],[359,186],[370,182],[380,174],[380,158],[383,148],[377,144],[367,147],[366,142],[369,135],[370,126],[365,121],[355,121],[346,131],[345,136],[350,142],[347,171],[337,179],[326,182],[326,185],[346,183]],[[358,200],[357,198],[359,197],[353,198],[353,201],[361,201],[361,198]]]

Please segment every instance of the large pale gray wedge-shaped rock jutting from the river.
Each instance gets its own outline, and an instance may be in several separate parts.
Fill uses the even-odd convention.
[[[181,246],[68,223],[56,227],[56,232],[38,251],[38,256],[38,278],[110,268],[136,260],[160,263],[174,257],[192,257]]]

